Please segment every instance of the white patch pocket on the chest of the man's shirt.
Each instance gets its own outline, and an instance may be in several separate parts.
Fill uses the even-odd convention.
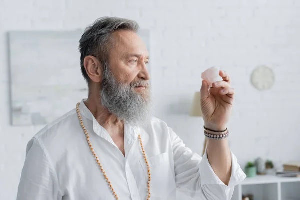
[[[171,170],[167,152],[147,158],[150,165],[151,181],[150,193],[155,199],[166,199],[173,195],[176,189],[175,177]],[[144,172],[145,181],[148,180],[148,170],[145,160],[139,160]]]

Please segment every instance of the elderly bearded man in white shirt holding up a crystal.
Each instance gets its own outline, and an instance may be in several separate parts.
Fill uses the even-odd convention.
[[[29,142],[18,200],[231,199],[245,175],[227,141],[234,90],[229,75],[209,88],[201,105],[208,137],[203,157],[152,117],[149,55],[135,21],[103,17],[80,39],[88,98]],[[199,132],[199,134],[201,134]]]

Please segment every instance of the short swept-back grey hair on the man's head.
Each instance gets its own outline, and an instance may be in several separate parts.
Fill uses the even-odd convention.
[[[108,66],[108,55],[112,47],[112,33],[117,30],[138,32],[139,25],[134,20],[118,17],[101,17],[84,30],[79,41],[80,65],[82,75],[88,84],[90,83],[90,78],[83,65],[84,58],[92,55],[98,59],[102,66]]]

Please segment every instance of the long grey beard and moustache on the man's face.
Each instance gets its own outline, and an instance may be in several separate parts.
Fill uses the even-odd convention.
[[[136,86],[145,86],[142,92],[136,92]],[[100,85],[102,106],[116,115],[118,119],[132,125],[145,125],[152,117],[152,98],[148,81],[136,79],[131,84],[118,82],[109,67],[104,68]]]

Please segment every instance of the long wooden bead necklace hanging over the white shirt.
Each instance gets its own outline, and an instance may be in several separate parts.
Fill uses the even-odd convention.
[[[94,151],[94,149],[93,149],[93,147],[92,147],[92,144],[91,144],[90,139],[89,139],[89,134],[88,134],[88,132],[86,131],[86,128],[85,128],[85,126],[84,126],[84,124],[83,124],[83,120],[82,120],[82,117],[81,117],[81,114],[80,114],[80,110],[79,110],[79,104],[80,104],[80,103],[77,103],[77,105],[76,105],[76,111],[77,111],[77,114],[78,114],[78,117],[79,117],[79,120],[80,120],[81,127],[83,128],[84,133],[85,133],[85,135],[86,135],[87,143],[88,143],[88,145],[89,145],[89,148],[90,148],[90,150],[91,150],[91,153],[92,153],[93,156],[95,157],[95,159],[96,159],[96,161],[97,161],[97,164],[98,164],[98,166],[100,167],[100,170],[102,171],[102,174],[103,174],[103,176],[104,176],[106,182],[108,183],[108,186],[109,186],[109,189],[110,189],[111,192],[112,192],[112,195],[114,196],[115,199],[118,200],[119,197],[117,196],[116,192],[114,191],[114,189],[113,189],[113,187],[112,187],[112,185],[111,185],[111,182],[110,182],[110,180],[108,179],[108,177],[107,177],[107,175],[106,175],[106,173],[105,173],[105,171],[104,171],[104,169],[103,169],[103,166],[101,165],[101,163],[100,163],[100,161],[99,161],[99,158],[98,158],[98,156],[96,155],[96,153],[95,153],[95,151]],[[148,160],[147,160],[147,157],[146,157],[146,153],[145,153],[144,148],[143,148],[143,145],[142,145],[142,141],[141,141],[140,135],[138,135],[138,139],[139,139],[139,141],[140,141],[141,151],[142,151],[142,153],[143,153],[143,157],[144,157],[144,160],[145,160],[145,162],[146,162],[147,170],[148,170],[148,185],[147,185],[147,198],[146,198],[146,199],[149,200],[149,199],[150,199],[150,181],[151,181],[150,166],[149,166],[149,163],[148,163]]]

